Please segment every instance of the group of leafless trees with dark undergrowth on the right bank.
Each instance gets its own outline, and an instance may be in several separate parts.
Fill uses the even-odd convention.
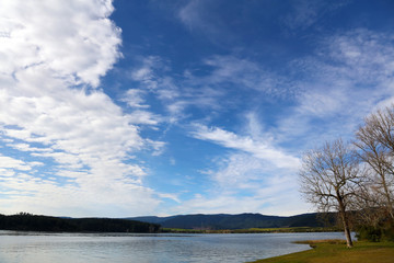
[[[347,245],[394,241],[394,105],[367,116],[349,142],[338,138],[303,155],[301,193],[318,211],[337,211]]]

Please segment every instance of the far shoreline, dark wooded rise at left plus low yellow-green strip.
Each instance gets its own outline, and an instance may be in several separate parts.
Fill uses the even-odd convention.
[[[0,215],[0,230],[49,232],[151,232],[151,233],[279,233],[337,232],[337,227],[276,227],[276,228],[163,228],[159,224],[115,218],[66,218],[20,213]]]

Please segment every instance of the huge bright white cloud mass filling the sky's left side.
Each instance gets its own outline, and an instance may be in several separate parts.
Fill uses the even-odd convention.
[[[0,158],[0,187],[11,193],[0,201],[4,213],[124,216],[149,214],[160,203],[130,157],[146,147],[159,151],[160,142],[141,138],[137,126],[158,117],[125,114],[96,89],[121,56],[113,10],[109,0],[2,4],[0,138],[24,157]]]

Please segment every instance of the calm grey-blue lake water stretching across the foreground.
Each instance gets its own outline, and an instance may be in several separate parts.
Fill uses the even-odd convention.
[[[1,263],[240,263],[310,249],[343,233],[108,235],[0,231]]]

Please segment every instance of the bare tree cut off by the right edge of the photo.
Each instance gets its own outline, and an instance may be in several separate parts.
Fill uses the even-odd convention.
[[[374,201],[369,202],[374,202],[375,208],[385,207],[386,214],[394,220],[394,107],[368,116],[364,125],[357,130],[354,144],[370,170],[368,196],[374,197]]]

